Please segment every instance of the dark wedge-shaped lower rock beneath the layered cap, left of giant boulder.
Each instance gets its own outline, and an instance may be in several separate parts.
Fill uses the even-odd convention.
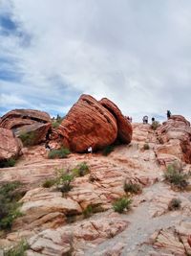
[[[37,145],[44,141],[51,124],[32,124],[20,128],[14,128],[16,137],[21,138],[25,146]]]

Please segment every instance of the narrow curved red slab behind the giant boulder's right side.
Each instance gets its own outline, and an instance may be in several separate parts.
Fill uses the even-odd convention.
[[[99,101],[100,105],[103,105],[108,109],[117,120],[117,139],[121,143],[128,144],[132,140],[132,126],[131,123],[122,115],[117,105],[112,103],[110,100],[103,98]]]

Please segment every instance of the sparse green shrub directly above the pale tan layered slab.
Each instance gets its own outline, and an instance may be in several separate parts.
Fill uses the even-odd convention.
[[[58,177],[56,178],[56,186],[62,193],[69,192],[73,187],[71,182],[74,180],[74,175],[64,173],[64,170],[60,169],[57,171]]]

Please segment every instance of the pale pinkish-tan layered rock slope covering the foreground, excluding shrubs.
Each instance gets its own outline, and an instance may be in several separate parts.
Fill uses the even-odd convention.
[[[173,190],[163,180],[166,166],[175,160],[183,173],[190,172],[189,134],[189,123],[179,116],[157,130],[133,124],[132,142],[117,146],[108,156],[73,153],[66,159],[51,160],[43,146],[25,148],[15,167],[0,169],[1,182],[20,180],[27,191],[21,199],[23,216],[13,222],[0,245],[25,238],[29,256],[191,254],[187,241],[191,234],[190,187]],[[42,187],[57,169],[68,172],[84,161],[90,173],[75,177],[68,193]],[[130,211],[118,214],[112,203],[126,195],[125,180],[138,183],[142,193],[131,196]],[[172,198],[180,198],[180,209],[169,210]],[[86,219],[82,213],[90,205],[97,213]]]

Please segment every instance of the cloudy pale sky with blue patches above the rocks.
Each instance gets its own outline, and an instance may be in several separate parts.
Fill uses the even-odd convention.
[[[191,117],[190,0],[0,0],[0,116],[64,115],[82,93]]]

